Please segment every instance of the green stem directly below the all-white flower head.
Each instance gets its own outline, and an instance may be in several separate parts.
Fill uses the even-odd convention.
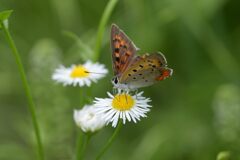
[[[83,139],[84,137],[85,137],[85,140]],[[87,145],[88,145],[91,137],[92,137],[91,134],[83,134],[82,132],[79,133],[78,142],[77,142],[78,144],[77,144],[76,160],[83,159],[85,150],[87,148]]]

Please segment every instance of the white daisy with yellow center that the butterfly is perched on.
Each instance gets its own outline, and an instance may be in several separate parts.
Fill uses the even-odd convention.
[[[113,96],[108,92],[110,98],[95,98],[94,106],[97,113],[103,114],[106,123],[112,123],[113,127],[116,127],[119,118],[123,120],[123,124],[126,120],[136,123],[140,121],[140,117],[147,117],[146,113],[151,107],[148,104],[151,102],[150,98],[145,98],[142,94],[143,92],[140,92],[132,96],[119,92]]]

